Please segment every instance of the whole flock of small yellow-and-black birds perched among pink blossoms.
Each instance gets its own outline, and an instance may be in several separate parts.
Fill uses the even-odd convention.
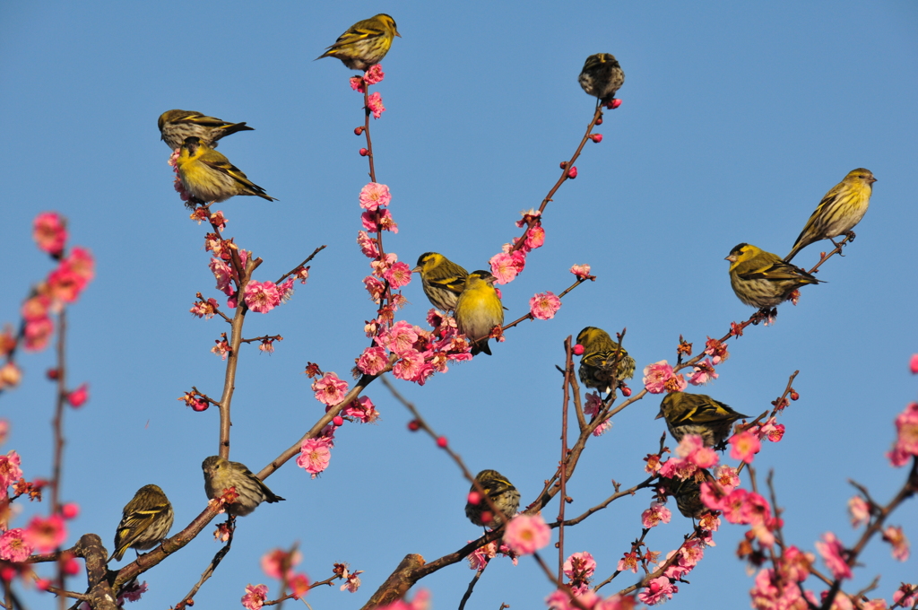
[[[352,70],[367,70],[383,60],[395,37],[401,37],[395,19],[376,15],[353,24],[316,59],[335,57]],[[607,105],[624,84],[625,76],[614,55],[597,53],[587,58],[578,81],[589,96],[597,98],[599,105]],[[179,178],[191,195],[191,205],[225,201],[236,195],[276,200],[216,150],[220,139],[252,130],[245,122],[231,123],[192,110],[169,110],[162,113],[158,126],[162,141],[171,151],[178,151],[175,163]],[[768,310],[789,299],[798,288],[819,283],[812,274],[791,265],[790,260],[811,243],[827,239],[837,247],[834,238],[844,235],[853,239],[852,229],[864,218],[876,181],[862,167],[845,175],[816,206],[783,259],[749,243],[734,247],[725,260],[730,262],[730,283],[737,298],[747,305]],[[459,332],[469,337],[473,345],[473,356],[482,352],[490,355],[489,334],[504,321],[504,308],[494,288],[496,278],[485,270],[468,273],[435,252],[421,254],[413,272],[420,274],[421,286],[431,305],[453,312]],[[577,344],[584,348],[578,377],[586,387],[611,396],[621,383],[633,378],[633,357],[609,333],[588,326],[577,334]],[[704,446],[717,447],[722,446],[733,423],[747,415],[705,394],[671,392],[660,403],[656,417],[666,420],[666,428],[677,442],[684,435],[695,434],[701,436]],[[284,500],[239,462],[211,456],[201,467],[208,499],[218,500],[235,488],[238,495],[225,505],[226,512],[233,517],[251,514],[263,502]],[[702,475],[705,480],[712,480],[707,471]],[[487,501],[475,498],[473,485],[465,505],[465,515],[473,524],[498,527],[519,510],[520,491],[497,470],[482,470],[476,482]],[[700,502],[699,480],[665,480],[662,486],[675,496],[680,513],[697,518],[705,512]],[[492,507],[498,514],[494,514]],[[140,551],[155,547],[168,536],[173,521],[172,504],[162,489],[156,485],[141,487],[124,507],[115,533],[115,552],[108,561],[122,559],[128,548]]]

